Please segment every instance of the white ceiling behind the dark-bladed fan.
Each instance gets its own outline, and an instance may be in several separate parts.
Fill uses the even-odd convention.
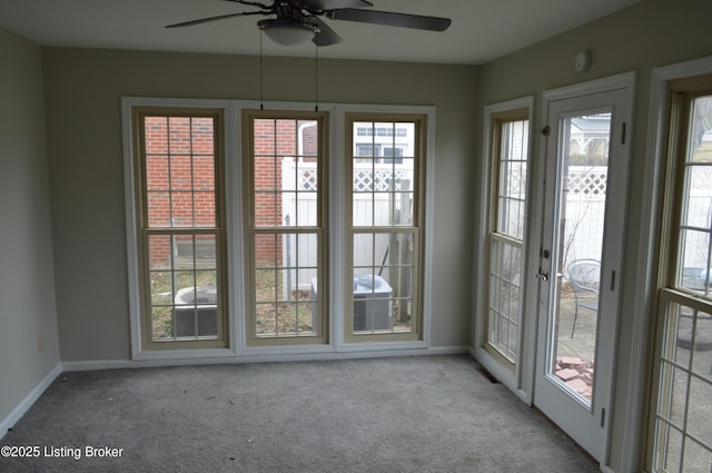
[[[318,57],[477,65],[637,1],[372,0],[375,10],[447,17],[453,23],[432,32],[325,20],[344,42],[319,48]],[[41,46],[256,56],[255,23],[263,17],[164,28],[248,9],[222,0],[0,0],[0,26]],[[315,47],[280,47],[264,38],[263,52],[314,57]]]

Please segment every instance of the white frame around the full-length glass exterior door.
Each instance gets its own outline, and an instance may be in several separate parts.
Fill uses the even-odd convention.
[[[615,90],[624,90],[626,92],[625,98],[623,99],[626,102],[626,109],[627,109],[627,117],[623,117],[623,121],[626,122],[626,135],[627,137],[626,139],[626,159],[625,159],[625,174],[629,175],[629,168],[630,168],[630,160],[632,158],[632,130],[633,130],[633,110],[634,110],[634,97],[635,97],[635,81],[636,81],[636,73],[634,71],[631,72],[625,72],[625,73],[621,73],[621,75],[616,75],[616,76],[612,76],[612,77],[607,77],[607,78],[602,78],[602,79],[596,79],[596,80],[592,80],[592,81],[586,81],[586,82],[581,82],[581,83],[576,83],[576,85],[572,85],[572,86],[566,86],[566,87],[562,87],[562,88],[557,88],[557,89],[551,89],[551,90],[546,90],[542,93],[542,104],[541,104],[541,121],[540,124],[542,124],[542,127],[544,125],[546,125],[547,120],[548,120],[548,104],[552,101],[556,101],[556,100],[565,100],[565,99],[574,99],[577,97],[583,97],[583,96],[589,96],[589,95],[595,95],[595,93],[600,93],[600,92],[609,92],[609,91],[615,91]],[[538,132],[544,134],[545,128],[540,128],[537,130]],[[543,242],[543,236],[544,236],[544,213],[545,213],[545,197],[544,197],[544,179],[546,177],[546,167],[547,167],[547,156],[546,156],[546,148],[547,148],[547,139],[545,139],[544,137],[540,137],[540,156],[538,156],[538,166],[536,168],[536,188],[534,191],[534,195],[536,196],[536,199],[540,201],[540,205],[534,209],[534,214],[532,215],[532,221],[533,225],[531,226],[531,230],[532,230],[532,236],[536,235],[538,242]],[[550,144],[551,146],[557,146],[557,144]],[[626,190],[624,193],[624,196],[627,200],[627,186]],[[622,216],[624,216],[624,213],[621,213]],[[622,224],[622,243],[625,243],[625,235],[626,235],[626,228],[625,225]],[[532,238],[533,239],[533,238]],[[622,248],[621,248],[622,252]],[[536,265],[531,266],[530,268],[536,268],[540,264],[540,255],[538,252],[532,252],[532,254],[530,255],[532,259],[536,258]],[[622,280],[622,268],[623,268],[623,262],[621,262],[620,264],[621,268],[619,269],[619,275],[617,275],[617,279],[619,282]],[[540,289],[540,284],[538,284],[538,279],[535,278],[535,275],[532,270],[530,270],[530,274],[527,276],[527,279],[530,282],[530,284],[532,284],[532,287],[534,289],[534,292],[536,292],[536,294],[538,294],[538,289]],[[621,302],[622,297],[619,296],[619,317],[620,317],[620,302]],[[540,307],[537,316],[536,316],[536,327],[540,326],[540,324],[542,323],[542,317],[547,318],[548,317],[548,312],[543,309],[542,307]],[[617,353],[617,321],[615,324],[615,333],[614,333],[614,337],[613,337],[613,364],[611,369],[613,369],[613,372],[615,372],[615,367],[616,367],[616,353]],[[540,352],[541,352],[541,347],[538,346],[538,329],[532,331],[532,333],[530,334],[530,336],[532,336],[533,339],[533,356],[531,356],[531,383],[533,386],[533,392],[536,392],[536,365],[537,363],[540,363],[540,359],[537,358]],[[612,376],[611,380],[611,393],[609,395],[609,414],[606,414],[607,420],[605,422],[605,427],[604,427],[604,435],[605,435],[605,441],[604,441],[604,447],[602,453],[599,455],[599,457],[596,459],[597,461],[601,462],[601,465],[605,465],[607,463],[607,459],[609,459],[609,451],[610,451],[610,438],[611,438],[611,431],[612,431],[612,416],[611,416],[611,412],[613,411],[613,391],[615,388],[615,376]],[[534,393],[532,394],[532,400],[534,398]]]

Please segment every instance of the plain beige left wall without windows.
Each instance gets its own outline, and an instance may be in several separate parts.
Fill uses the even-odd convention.
[[[57,367],[59,343],[40,48],[0,28],[0,58],[2,422]]]

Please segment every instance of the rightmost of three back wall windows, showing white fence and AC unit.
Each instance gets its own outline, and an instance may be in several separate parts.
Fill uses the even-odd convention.
[[[352,284],[345,339],[422,339],[425,117],[347,114],[346,121],[346,278]],[[382,147],[387,159],[379,155]]]

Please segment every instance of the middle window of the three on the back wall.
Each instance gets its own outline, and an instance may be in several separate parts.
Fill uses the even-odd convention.
[[[325,117],[244,112],[250,345],[327,342]]]

